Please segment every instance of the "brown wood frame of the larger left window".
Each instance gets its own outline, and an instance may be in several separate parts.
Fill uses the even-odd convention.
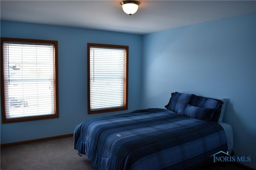
[[[54,75],[54,113],[52,114],[42,114],[42,115],[32,115],[26,117],[14,117],[9,118],[6,117],[6,104],[8,103],[5,101],[5,87],[4,87],[4,44],[7,43],[16,43],[16,44],[23,44],[23,45],[52,45],[53,46],[53,72]],[[9,68],[9,66],[8,66]],[[50,88],[50,86],[49,86]],[[12,100],[9,100],[12,101]],[[9,102],[10,103],[10,102]],[[18,38],[5,38],[1,37],[1,111],[2,111],[2,123],[14,123],[14,122],[22,122],[22,121],[33,121],[33,120],[40,120],[40,119],[52,119],[59,117],[59,107],[58,107],[58,41],[51,41],[51,40],[37,40],[37,39],[18,39]]]

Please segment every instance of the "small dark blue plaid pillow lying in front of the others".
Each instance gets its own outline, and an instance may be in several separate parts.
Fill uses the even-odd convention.
[[[210,117],[214,113],[214,111],[216,110],[204,108],[204,107],[192,106],[188,104],[185,110],[183,111],[183,115],[196,118],[196,119],[210,121]]]

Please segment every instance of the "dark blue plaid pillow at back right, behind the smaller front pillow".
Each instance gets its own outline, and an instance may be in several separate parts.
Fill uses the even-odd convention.
[[[220,117],[220,111],[221,111],[221,106],[223,102],[218,99],[213,99],[213,98],[205,98],[202,96],[193,96],[191,105],[192,106],[197,106],[197,107],[204,107],[204,108],[209,108],[209,109],[216,109],[214,113],[210,117],[210,121],[218,121]]]

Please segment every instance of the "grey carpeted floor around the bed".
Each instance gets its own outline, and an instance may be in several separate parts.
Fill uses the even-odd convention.
[[[78,156],[73,137],[1,148],[1,170],[95,170]],[[234,164],[213,164],[204,170],[243,170]]]

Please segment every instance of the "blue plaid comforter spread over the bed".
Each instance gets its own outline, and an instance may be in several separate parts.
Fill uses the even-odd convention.
[[[212,163],[211,156],[228,147],[216,122],[143,109],[82,122],[74,131],[74,149],[98,170],[176,170]]]

